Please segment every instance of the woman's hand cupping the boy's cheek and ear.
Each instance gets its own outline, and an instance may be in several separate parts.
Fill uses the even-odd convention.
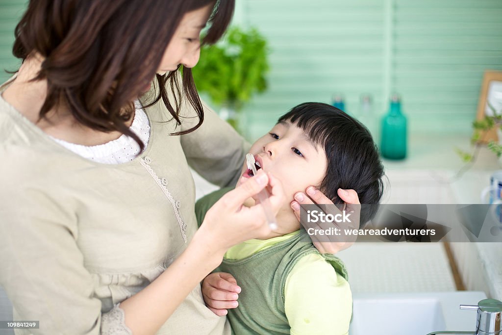
[[[357,196],[357,192],[353,189],[344,190],[339,188],[337,193],[338,196],[345,201],[345,211],[351,214],[351,223],[349,226],[340,227],[336,222],[305,222],[300,218],[300,205],[312,205],[316,204],[319,207],[319,210],[325,212],[326,214],[339,214],[340,210],[336,212],[328,212],[325,210],[323,204],[333,204],[328,197],[326,197],[321,191],[313,186],[309,186],[306,189],[305,195],[303,192],[298,192],[295,194],[295,200],[291,202],[291,208],[295,212],[296,218],[300,221],[300,224],[308,230],[309,228],[314,229],[322,229],[327,230],[332,226],[336,226],[337,228],[348,228],[348,229],[359,229],[359,219],[360,219],[360,210],[361,205],[359,203],[359,197]],[[335,206],[330,206],[335,207]],[[336,208],[336,207],[335,207]],[[356,236],[349,237],[345,235],[337,236],[337,235],[309,235],[312,239],[314,246],[319,250],[321,254],[336,254],[339,251],[347,249],[352,244],[354,244]]]

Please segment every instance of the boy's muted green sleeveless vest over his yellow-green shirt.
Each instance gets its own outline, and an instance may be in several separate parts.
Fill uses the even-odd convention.
[[[218,190],[197,201],[195,211],[199,225],[207,210],[230,189]],[[284,304],[286,278],[298,260],[309,254],[320,253],[302,229],[300,234],[244,259],[223,259],[216,271],[231,273],[242,287],[239,306],[229,309],[227,315],[234,334],[290,333]],[[321,256],[348,280],[345,265],[340,259],[329,254]]]

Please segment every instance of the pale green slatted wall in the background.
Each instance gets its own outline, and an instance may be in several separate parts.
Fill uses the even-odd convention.
[[[0,0],[0,69],[19,65],[12,42],[25,3]],[[469,134],[483,71],[502,70],[502,0],[237,0],[234,21],[270,45],[269,89],[245,108],[250,139],[334,93],[349,112],[369,93],[381,115],[398,92],[412,133]]]

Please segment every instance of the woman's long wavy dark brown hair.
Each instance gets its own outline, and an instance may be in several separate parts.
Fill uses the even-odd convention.
[[[132,101],[155,76],[163,53],[181,18],[215,0],[30,0],[16,27],[13,53],[23,61],[34,53],[44,57],[33,80],[47,80],[47,96],[39,120],[58,103],[66,104],[75,120],[91,129],[119,131],[143,142],[126,122],[133,115]],[[217,0],[202,43],[215,43],[226,30],[234,0]],[[191,69],[183,68],[180,94],[176,71],[156,75],[159,92],[148,106],[163,100],[181,124],[181,98],[186,96],[199,122],[204,112]],[[169,82],[175,96],[168,99]]]

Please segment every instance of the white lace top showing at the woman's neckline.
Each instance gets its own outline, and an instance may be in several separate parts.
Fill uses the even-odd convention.
[[[150,140],[150,122],[139,101],[135,102],[136,111],[131,130],[140,137],[145,148]],[[121,164],[132,161],[139,153],[140,146],[136,141],[122,135],[118,139],[96,146],[83,146],[52,138],[63,147],[77,155],[103,164]]]

